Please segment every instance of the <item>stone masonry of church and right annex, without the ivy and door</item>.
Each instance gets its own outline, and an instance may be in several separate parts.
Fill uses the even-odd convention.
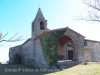
[[[65,27],[55,30],[49,30],[47,28],[47,20],[45,20],[41,9],[38,9],[37,15],[32,22],[32,35],[31,38],[25,41],[22,45],[11,47],[9,49],[9,63],[13,63],[15,54],[19,54],[21,57],[21,63],[31,65],[39,68],[48,68],[48,64],[45,61],[40,37],[48,32],[55,32],[66,30],[58,41],[58,55],[63,55],[64,60],[69,60],[71,55],[74,61],[79,62],[100,62],[100,42],[86,40],[85,37],[74,30]],[[73,53],[66,53],[66,44],[72,43]],[[73,60],[72,60],[73,61]]]

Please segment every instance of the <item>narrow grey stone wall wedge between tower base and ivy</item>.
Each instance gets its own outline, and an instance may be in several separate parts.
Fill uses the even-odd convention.
[[[35,66],[36,67],[41,67],[41,68],[47,68],[48,65],[44,59],[43,56],[43,51],[42,51],[42,47],[41,47],[41,43],[40,43],[40,39],[37,39],[35,41],[35,45],[36,45],[36,53],[35,53]]]

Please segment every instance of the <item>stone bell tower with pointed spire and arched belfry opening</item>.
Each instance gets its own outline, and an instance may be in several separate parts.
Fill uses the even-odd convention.
[[[47,20],[45,20],[41,9],[38,9],[36,17],[32,22],[32,37],[36,37],[44,30],[47,30]]]

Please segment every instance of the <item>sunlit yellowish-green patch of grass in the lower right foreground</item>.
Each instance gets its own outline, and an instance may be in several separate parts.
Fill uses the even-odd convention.
[[[77,65],[46,75],[100,75],[100,64]]]

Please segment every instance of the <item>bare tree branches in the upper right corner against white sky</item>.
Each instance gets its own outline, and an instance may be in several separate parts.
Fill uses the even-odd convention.
[[[80,15],[79,20],[100,22],[100,0],[83,0],[87,5],[85,17]]]

